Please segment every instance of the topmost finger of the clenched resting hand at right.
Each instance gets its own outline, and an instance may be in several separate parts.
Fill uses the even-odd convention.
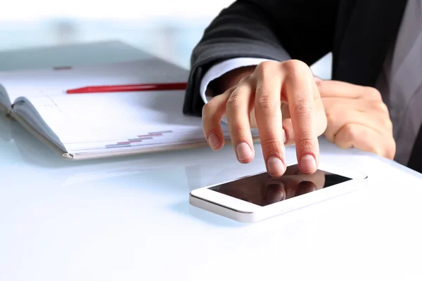
[[[359,86],[343,81],[323,80],[316,81],[322,98],[365,98],[366,100],[381,100],[381,93],[368,86]]]

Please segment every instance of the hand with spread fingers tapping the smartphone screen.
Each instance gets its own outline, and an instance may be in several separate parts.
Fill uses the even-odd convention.
[[[219,84],[226,85],[222,86],[224,93],[203,107],[204,134],[213,150],[224,145],[220,123],[226,115],[238,161],[251,162],[255,153],[250,112],[255,110],[268,174],[281,176],[286,171],[285,143],[296,144],[303,174],[316,171],[319,161],[317,137],[326,129],[326,115],[312,71],[305,63],[267,61],[255,69],[229,72]],[[285,105],[284,114],[282,105]],[[286,140],[283,140],[283,132]]]

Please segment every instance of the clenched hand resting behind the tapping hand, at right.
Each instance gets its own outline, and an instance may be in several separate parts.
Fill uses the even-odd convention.
[[[324,136],[340,148],[357,148],[393,159],[395,141],[388,108],[371,87],[316,79],[328,126]]]

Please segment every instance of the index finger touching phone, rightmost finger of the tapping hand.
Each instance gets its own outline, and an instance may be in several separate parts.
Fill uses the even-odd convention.
[[[319,99],[319,92],[312,72],[305,63],[295,63],[286,68],[289,74],[284,81],[282,95],[287,96],[288,100],[300,171],[313,174],[319,158],[314,103]]]

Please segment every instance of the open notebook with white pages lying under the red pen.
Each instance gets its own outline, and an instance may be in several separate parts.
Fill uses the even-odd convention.
[[[68,159],[206,145],[202,122],[182,114],[184,91],[67,94],[96,85],[186,81],[187,70],[153,56],[123,63],[0,72],[0,105]],[[226,124],[222,123],[226,137]],[[257,137],[257,131],[252,131]]]

